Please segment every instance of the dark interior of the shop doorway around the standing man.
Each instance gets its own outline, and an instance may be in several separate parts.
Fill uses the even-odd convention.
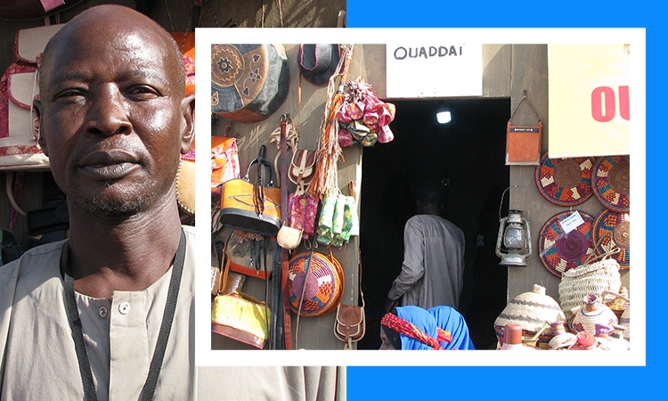
[[[394,102],[395,140],[363,150],[360,248],[367,331],[360,349],[379,348],[383,301],[403,261],[403,225],[413,215],[412,187],[422,179],[446,187],[443,217],[466,236],[460,299],[477,349],[493,348],[493,322],[506,306],[508,274],[494,253],[501,193],[509,186],[505,131],[509,99],[447,100],[452,121],[436,122],[439,102]],[[506,216],[508,196],[501,209]]]

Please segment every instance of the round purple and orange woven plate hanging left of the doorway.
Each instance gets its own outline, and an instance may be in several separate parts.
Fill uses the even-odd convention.
[[[306,272],[306,264],[308,271]],[[343,269],[337,259],[328,258],[322,253],[302,252],[289,263],[288,293],[290,307],[297,313],[299,299],[304,291],[304,302],[300,315],[327,315],[336,309],[343,294]]]

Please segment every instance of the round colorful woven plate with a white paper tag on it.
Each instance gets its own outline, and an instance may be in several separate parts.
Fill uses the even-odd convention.
[[[584,223],[566,233],[561,227],[561,221],[576,211],[580,213]],[[538,238],[542,266],[559,278],[567,270],[581,266],[595,252],[591,241],[593,224],[594,219],[591,215],[578,210],[560,212],[551,217],[542,226]]]

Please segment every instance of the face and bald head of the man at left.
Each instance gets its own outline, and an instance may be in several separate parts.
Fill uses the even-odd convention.
[[[183,100],[164,40],[100,26],[78,29],[45,57],[40,142],[69,201],[133,214],[174,196],[179,155],[190,145],[191,100]]]

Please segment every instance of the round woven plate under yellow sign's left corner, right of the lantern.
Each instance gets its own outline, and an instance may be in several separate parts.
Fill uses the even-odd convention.
[[[542,155],[535,181],[546,200],[559,206],[574,206],[591,198],[593,158],[550,159]]]

